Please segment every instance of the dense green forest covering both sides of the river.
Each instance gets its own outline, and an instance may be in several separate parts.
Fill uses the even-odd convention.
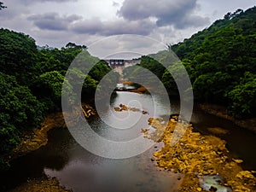
[[[224,15],[212,26],[179,44],[169,44],[183,61],[195,99],[229,108],[236,118],[252,117],[256,110],[256,7]],[[168,49],[163,51],[169,51]],[[27,131],[38,127],[45,115],[61,111],[61,89],[70,63],[86,51],[85,45],[68,43],[61,49],[38,49],[26,34],[0,29],[0,168]],[[159,56],[162,52],[159,53]],[[97,61],[97,58],[91,59]],[[175,95],[170,73],[150,56],[137,66],[148,68]],[[176,65],[171,70],[178,70]],[[84,77],[83,98],[89,101],[102,77],[111,71],[106,61]],[[134,67],[124,73],[139,74]],[[118,75],[115,74],[118,78]]]

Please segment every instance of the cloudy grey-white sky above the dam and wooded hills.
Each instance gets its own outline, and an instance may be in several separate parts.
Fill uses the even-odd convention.
[[[223,18],[227,12],[246,10],[256,4],[255,0],[0,1],[8,7],[0,10],[0,27],[24,32],[40,46],[61,48],[68,42],[90,46],[107,38],[103,42],[108,49],[113,44],[113,47],[126,47],[123,49],[126,51],[132,46],[142,47],[145,38],[177,44]],[[117,37],[126,34],[129,35],[125,43],[118,44]],[[136,38],[131,40],[131,37]],[[131,46],[131,42],[136,44]]]

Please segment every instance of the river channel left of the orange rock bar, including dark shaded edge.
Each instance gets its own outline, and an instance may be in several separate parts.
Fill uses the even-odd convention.
[[[149,95],[119,93],[112,105],[114,107],[120,102],[128,105],[134,99],[143,103],[143,109],[153,114],[153,109],[148,105],[151,99]],[[160,106],[160,102],[158,105]],[[122,116],[125,113],[116,114]],[[111,116],[108,114],[107,110],[103,118],[111,121]],[[131,113],[131,117],[132,115],[137,116],[137,113]],[[141,128],[148,125],[148,118],[149,114],[142,115],[143,122],[137,124],[135,133],[123,138],[130,139],[141,134]],[[114,119],[112,121],[114,122]],[[99,118],[92,119],[90,123],[93,129],[104,137],[119,140],[122,136],[119,132],[109,131],[108,126],[104,125]],[[75,192],[167,192],[170,189],[177,191],[181,182],[177,178],[181,175],[167,171],[160,172],[151,160],[154,151],[159,150],[160,146],[160,143],[155,143],[154,147],[143,154],[125,160],[112,160],[90,154],[76,143],[68,130],[51,130],[49,143],[46,146],[11,163],[11,170],[2,174],[4,177],[0,180],[1,189],[8,191],[25,183],[27,179],[48,176],[56,177],[61,185]]]

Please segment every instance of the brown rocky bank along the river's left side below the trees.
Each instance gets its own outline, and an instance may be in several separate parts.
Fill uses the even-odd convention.
[[[83,103],[82,112],[86,119],[89,119],[91,115],[96,114],[95,110],[90,105]],[[20,145],[14,149],[12,154],[9,154],[8,161],[15,160],[16,158],[29,154],[32,151],[41,148],[48,143],[48,131],[52,129],[66,129],[63,113],[51,113],[43,121],[41,127],[33,129],[32,132],[27,133]],[[56,178],[42,177],[26,181],[10,192],[31,192],[31,191],[51,191],[51,192],[69,192],[60,186],[59,181]]]

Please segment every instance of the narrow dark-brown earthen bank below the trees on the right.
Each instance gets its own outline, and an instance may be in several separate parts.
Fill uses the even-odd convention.
[[[214,105],[214,104],[209,104],[209,103],[198,104],[198,107],[201,108],[201,110],[203,110],[206,113],[213,114],[223,119],[228,119],[234,124],[240,126],[241,128],[247,129],[249,131],[253,131],[253,133],[256,134],[256,118],[236,119],[230,115],[227,108]]]

